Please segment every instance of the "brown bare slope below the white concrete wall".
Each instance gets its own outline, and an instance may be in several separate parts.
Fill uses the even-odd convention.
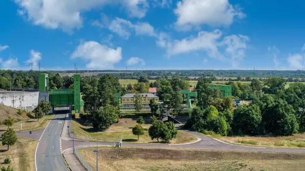
[[[28,119],[26,114],[18,115],[17,111],[18,110],[15,108],[0,104],[0,124],[5,118],[8,117],[14,118],[15,122]]]

